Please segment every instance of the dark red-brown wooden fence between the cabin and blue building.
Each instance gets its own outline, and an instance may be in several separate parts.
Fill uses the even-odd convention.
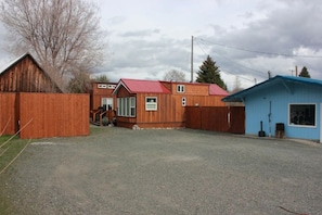
[[[245,134],[244,106],[186,106],[186,128]]]

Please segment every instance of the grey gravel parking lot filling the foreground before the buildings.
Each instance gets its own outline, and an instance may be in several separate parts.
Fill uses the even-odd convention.
[[[191,129],[35,140],[0,175],[5,214],[322,214],[322,147]]]

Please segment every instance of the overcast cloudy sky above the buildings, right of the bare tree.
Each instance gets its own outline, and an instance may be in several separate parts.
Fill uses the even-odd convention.
[[[170,69],[194,78],[209,54],[231,90],[306,66],[322,79],[321,0],[93,0],[108,49],[96,68],[119,78],[163,79]],[[1,29],[1,26],[0,26]],[[2,34],[0,33],[0,37]],[[0,58],[3,61],[3,50]]]

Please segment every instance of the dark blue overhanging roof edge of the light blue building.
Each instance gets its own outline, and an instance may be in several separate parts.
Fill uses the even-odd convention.
[[[222,101],[223,102],[243,102],[244,98],[248,94],[252,94],[254,92],[257,92],[259,90],[262,90],[262,89],[266,89],[269,87],[273,87],[274,85],[278,85],[278,84],[282,84],[285,87],[287,87],[287,84],[289,84],[289,83],[294,83],[297,85],[305,85],[305,86],[313,85],[313,86],[322,87],[322,80],[306,78],[306,77],[278,75],[273,78],[270,78],[270,79],[262,81],[258,85],[255,85],[250,88],[247,88],[245,90],[242,90],[242,91],[233,93],[233,94],[230,94],[230,96],[223,98]]]

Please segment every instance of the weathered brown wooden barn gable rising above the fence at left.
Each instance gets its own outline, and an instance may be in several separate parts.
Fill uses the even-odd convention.
[[[0,71],[1,92],[62,92],[37,61],[26,53]]]

